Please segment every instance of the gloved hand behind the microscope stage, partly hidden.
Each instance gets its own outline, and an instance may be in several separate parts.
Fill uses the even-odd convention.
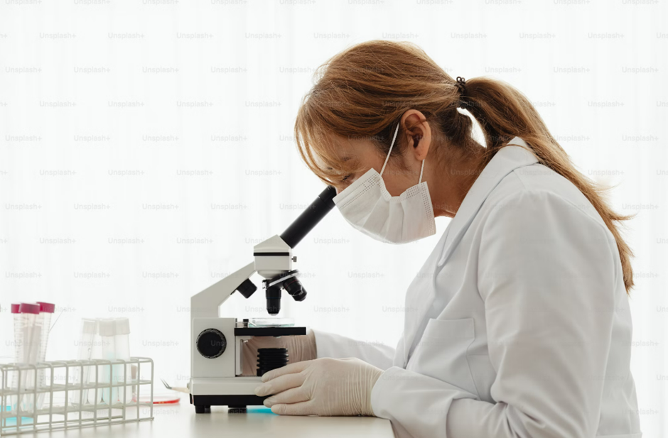
[[[288,363],[310,361],[316,356],[316,335],[312,330],[306,336],[254,336],[242,345],[242,376],[257,376],[257,349],[288,349]]]

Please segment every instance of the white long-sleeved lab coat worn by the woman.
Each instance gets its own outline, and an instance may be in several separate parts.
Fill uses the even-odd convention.
[[[371,403],[397,437],[639,438],[615,239],[571,182],[509,145],[406,292],[397,349],[314,330],[318,357],[384,369]]]

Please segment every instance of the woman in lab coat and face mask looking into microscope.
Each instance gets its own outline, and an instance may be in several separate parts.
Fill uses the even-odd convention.
[[[396,350],[319,331],[282,341],[297,362],[264,374],[265,405],[376,415],[398,437],[640,437],[627,217],[529,100],[455,81],[408,43],[362,43],[319,72],[295,133],[345,219],[389,243],[453,219],[406,293]]]

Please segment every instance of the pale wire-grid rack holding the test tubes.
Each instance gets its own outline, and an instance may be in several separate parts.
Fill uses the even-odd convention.
[[[129,375],[134,366],[136,373]],[[114,376],[118,367],[122,378]],[[12,387],[13,381],[18,387]],[[89,391],[92,397],[85,397]],[[131,400],[105,403],[99,396],[105,391],[131,394]],[[0,402],[0,436],[153,420],[153,361],[131,357],[0,364]]]

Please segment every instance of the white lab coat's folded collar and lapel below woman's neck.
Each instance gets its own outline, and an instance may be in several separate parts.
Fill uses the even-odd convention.
[[[439,267],[448,261],[471,221],[478,214],[480,206],[499,182],[513,170],[534,163],[538,163],[538,159],[522,138],[512,138],[507,146],[498,150],[473,182],[455,217],[448,225],[446,243],[441,257],[438,258]]]

